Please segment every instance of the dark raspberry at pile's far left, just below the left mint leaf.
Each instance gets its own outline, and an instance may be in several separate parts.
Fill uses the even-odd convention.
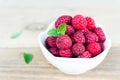
[[[48,47],[56,47],[56,39],[57,37],[49,36],[46,39],[46,46]]]

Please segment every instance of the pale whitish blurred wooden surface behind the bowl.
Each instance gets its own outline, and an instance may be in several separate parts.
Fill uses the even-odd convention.
[[[62,14],[83,14],[104,25],[113,46],[120,44],[120,0],[0,0],[0,48],[38,47],[40,30]],[[20,37],[10,34],[27,25]]]

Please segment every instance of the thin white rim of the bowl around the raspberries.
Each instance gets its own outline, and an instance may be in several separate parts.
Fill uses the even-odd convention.
[[[48,30],[51,29],[51,26],[54,25],[54,23],[55,23],[55,21],[51,22],[51,23],[48,25],[48,28],[47,28],[44,32],[40,32],[40,33],[39,33],[39,36],[38,36],[39,44],[41,44],[42,47],[45,48],[45,50],[47,50],[47,49],[46,49],[46,47],[43,45],[40,37],[43,36],[43,34],[46,34],[46,33],[48,32]],[[108,38],[107,33],[106,33],[105,29],[103,28],[103,26],[102,26],[101,24],[99,24],[98,22],[95,22],[95,24],[99,25],[99,27],[102,28],[102,30],[104,31],[104,34],[105,34],[105,36],[106,36],[106,40],[105,40],[105,41],[108,41],[108,44],[109,44],[108,47],[107,47],[103,52],[101,52],[99,55],[97,55],[97,56],[95,56],[95,57],[92,57],[92,58],[65,58],[65,57],[56,57],[56,56],[52,55],[52,54],[47,50],[47,52],[49,53],[48,55],[49,55],[50,57],[54,58],[54,59],[59,59],[59,60],[61,60],[61,59],[62,59],[62,60],[93,60],[93,59],[96,59],[97,57],[99,57],[100,55],[102,55],[105,51],[109,50],[110,47],[111,47],[111,45],[112,45],[112,43],[111,43],[111,40]],[[41,47],[41,48],[42,48],[42,47]],[[42,52],[42,53],[43,53],[43,52]],[[44,54],[44,53],[43,53],[43,54]]]

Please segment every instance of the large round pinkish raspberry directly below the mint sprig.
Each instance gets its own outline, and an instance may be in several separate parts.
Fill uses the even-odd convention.
[[[72,46],[72,41],[68,35],[61,35],[56,40],[59,49],[68,49]]]

